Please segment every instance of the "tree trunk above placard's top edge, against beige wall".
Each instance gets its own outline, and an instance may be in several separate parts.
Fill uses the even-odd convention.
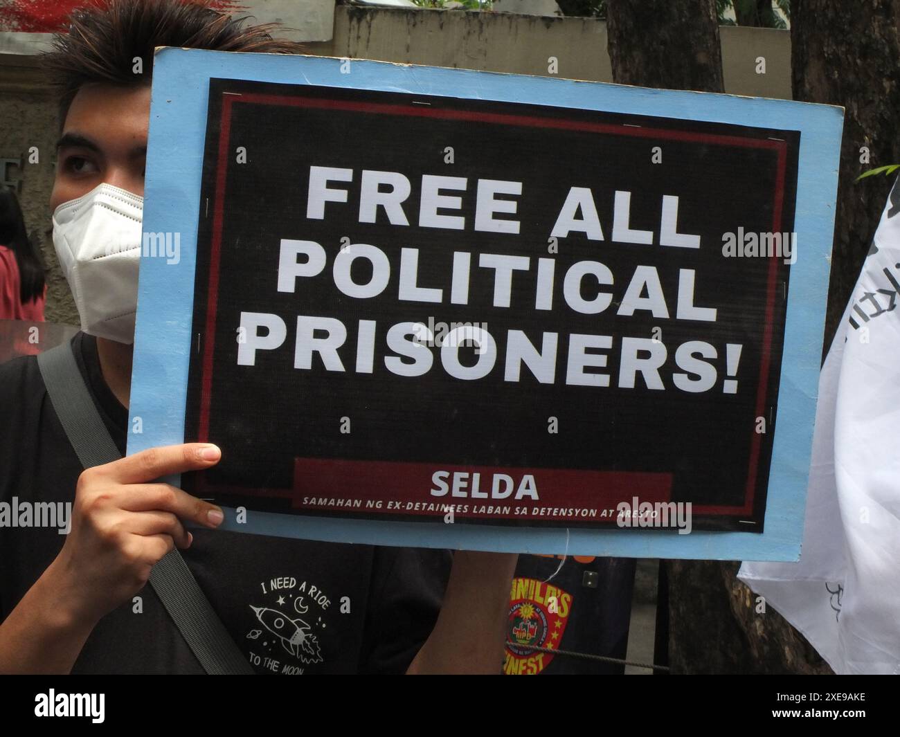
[[[725,89],[716,0],[608,0],[607,33],[620,85]]]

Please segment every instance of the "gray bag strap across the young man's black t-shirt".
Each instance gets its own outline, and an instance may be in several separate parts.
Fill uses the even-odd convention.
[[[121,458],[78,371],[71,343],[66,341],[38,355],[38,368],[53,409],[81,464],[91,468]],[[254,672],[212,610],[177,548],[153,566],[150,585],[203,670],[212,675]]]

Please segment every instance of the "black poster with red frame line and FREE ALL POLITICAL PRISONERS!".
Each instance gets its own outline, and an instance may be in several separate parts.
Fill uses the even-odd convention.
[[[185,440],[228,506],[761,532],[799,133],[211,80]],[[674,523],[670,526],[674,526]]]

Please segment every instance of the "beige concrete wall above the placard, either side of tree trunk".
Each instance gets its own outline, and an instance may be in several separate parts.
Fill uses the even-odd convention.
[[[725,91],[790,99],[790,33],[722,26]],[[371,9],[338,5],[334,38],[312,53],[435,67],[612,82],[607,24],[464,10]],[[548,71],[557,59],[557,73]],[[765,74],[758,74],[758,58]]]

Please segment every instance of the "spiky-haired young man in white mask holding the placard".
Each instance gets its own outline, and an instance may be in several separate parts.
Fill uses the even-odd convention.
[[[153,49],[302,50],[269,30],[204,4],[110,0],[76,15],[50,58],[65,89],[51,206],[82,320],[72,347],[121,453],[140,252],[123,234],[141,218]],[[499,672],[515,555],[457,552],[451,570],[446,551],[215,531],[220,508],[156,480],[210,468],[217,446],[82,472],[31,357],[0,369],[0,405],[0,501],[68,510],[67,529],[20,515],[0,531],[0,672],[202,672],[146,586],[174,547],[258,673]]]

